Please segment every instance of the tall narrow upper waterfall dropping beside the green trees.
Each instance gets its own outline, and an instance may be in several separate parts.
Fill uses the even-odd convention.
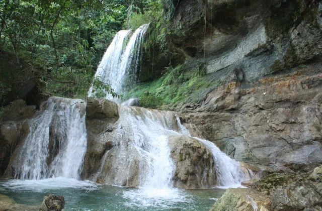
[[[133,34],[131,30],[119,31],[106,50],[95,78],[99,77],[102,82],[110,84],[119,94],[126,91],[136,81],[141,43],[147,28],[148,24],[142,25]],[[88,96],[94,96],[95,93],[92,85]],[[107,95],[107,98],[113,99],[110,95]]]

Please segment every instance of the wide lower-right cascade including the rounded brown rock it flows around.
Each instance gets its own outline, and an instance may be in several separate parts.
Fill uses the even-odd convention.
[[[251,178],[251,173],[212,142],[191,137],[173,112],[119,106],[119,116],[118,128],[113,132],[114,147],[104,155],[93,181],[165,189],[231,187]],[[203,151],[192,155],[190,151],[195,149],[190,146]],[[204,159],[206,155],[210,158]],[[205,165],[200,171],[189,169],[188,165],[199,161],[203,163],[198,165]]]

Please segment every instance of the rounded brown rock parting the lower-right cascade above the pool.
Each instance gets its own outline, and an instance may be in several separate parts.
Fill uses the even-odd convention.
[[[176,187],[204,189],[216,185],[213,157],[203,144],[188,136],[170,136],[169,146],[176,165]]]

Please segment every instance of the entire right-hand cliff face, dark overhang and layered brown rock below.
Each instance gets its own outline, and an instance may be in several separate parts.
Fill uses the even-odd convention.
[[[174,6],[170,46],[211,81],[178,107],[192,134],[236,160],[276,171],[321,164],[322,3],[183,0]]]

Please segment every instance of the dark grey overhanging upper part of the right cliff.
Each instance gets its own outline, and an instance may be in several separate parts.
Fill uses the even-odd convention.
[[[243,79],[281,72],[320,55],[318,1],[178,1],[169,41],[206,73],[243,72]]]

